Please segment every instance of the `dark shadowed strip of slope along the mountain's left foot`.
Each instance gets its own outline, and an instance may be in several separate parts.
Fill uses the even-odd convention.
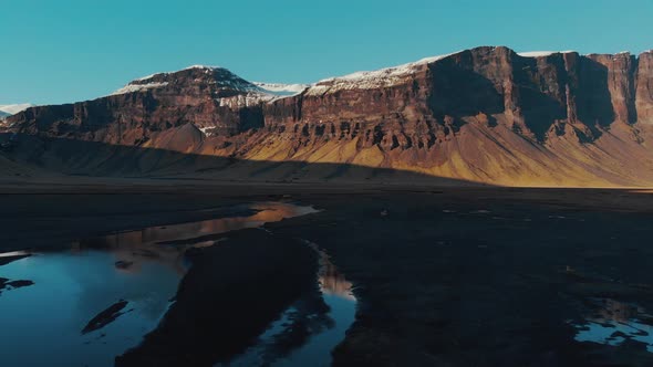
[[[0,139],[6,137],[0,134]],[[476,182],[410,170],[353,164],[247,160],[97,141],[44,139],[30,135],[19,135],[19,140],[20,144],[7,154],[8,157],[0,156],[0,172],[18,178],[90,176],[247,182],[478,186]]]

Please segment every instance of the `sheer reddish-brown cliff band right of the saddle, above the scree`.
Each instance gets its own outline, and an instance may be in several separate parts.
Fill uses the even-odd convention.
[[[594,140],[613,123],[653,123],[651,60],[653,53],[524,57],[506,48],[480,48],[398,72],[326,80],[268,104],[266,116],[269,125],[351,120],[442,130],[479,115],[491,125],[500,115],[508,128],[540,143],[562,134],[566,124]],[[415,133],[422,136],[403,134],[404,147],[423,140],[424,132]]]

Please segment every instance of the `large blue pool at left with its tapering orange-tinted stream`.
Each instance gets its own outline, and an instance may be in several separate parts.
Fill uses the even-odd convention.
[[[241,206],[234,212],[247,216],[86,239],[0,266],[0,277],[34,282],[0,293],[1,363],[113,366],[114,357],[138,345],[165,314],[186,272],[187,248],[218,242],[213,234],[314,211],[282,202]],[[169,243],[178,240],[183,243]],[[128,302],[124,314],[82,334],[89,321],[120,300]]]

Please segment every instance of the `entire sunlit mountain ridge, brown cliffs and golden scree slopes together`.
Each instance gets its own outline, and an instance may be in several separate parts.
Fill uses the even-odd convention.
[[[41,137],[245,160],[499,185],[651,185],[653,53],[478,48],[324,80],[283,97],[224,69],[191,67],[95,101],[30,108],[8,123]]]

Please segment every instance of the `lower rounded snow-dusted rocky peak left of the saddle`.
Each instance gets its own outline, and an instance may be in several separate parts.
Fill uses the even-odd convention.
[[[94,101],[29,108],[11,122],[22,133],[123,145],[143,144],[152,133],[188,123],[229,136],[262,127],[255,94],[255,85],[225,69],[190,67],[134,81]]]

